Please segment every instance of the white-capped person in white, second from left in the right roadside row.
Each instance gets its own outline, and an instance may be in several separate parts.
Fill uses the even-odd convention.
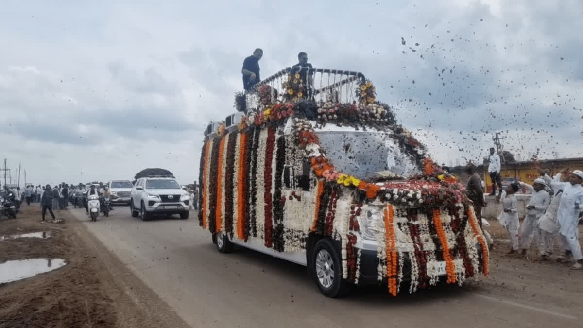
[[[536,243],[540,245],[541,233],[538,221],[550,204],[550,195],[545,191],[545,180],[538,178],[531,186],[521,182],[520,185],[531,193],[531,200],[526,205],[526,217],[522,221],[522,255],[526,255],[526,250],[531,248],[532,239],[536,236]],[[545,257],[544,250],[540,254]]]

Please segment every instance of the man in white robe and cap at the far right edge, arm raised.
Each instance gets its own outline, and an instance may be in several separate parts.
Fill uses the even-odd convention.
[[[562,189],[563,196],[559,203],[557,218],[559,219],[559,233],[561,242],[566,249],[565,256],[568,258],[571,254],[575,260],[574,270],[583,269],[583,254],[581,254],[581,245],[579,244],[579,214],[583,211],[583,172],[574,170],[569,177],[569,182],[560,182],[561,173],[554,176],[553,189]]]

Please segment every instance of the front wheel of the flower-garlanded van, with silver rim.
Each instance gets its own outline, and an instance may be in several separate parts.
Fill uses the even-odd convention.
[[[312,277],[318,285],[318,289],[325,296],[330,298],[338,298],[346,295],[348,284],[342,277],[342,258],[336,252],[336,247],[329,239],[320,239],[314,246],[312,252]],[[325,265],[322,266],[322,263]],[[319,268],[320,267],[320,268]],[[331,270],[332,272],[330,272]],[[328,272],[330,275],[322,276],[324,282],[318,278],[318,273]],[[331,283],[329,278],[331,278]],[[329,284],[329,285],[328,285]]]

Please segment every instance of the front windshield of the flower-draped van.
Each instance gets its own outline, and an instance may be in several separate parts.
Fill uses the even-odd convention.
[[[381,172],[402,177],[420,173],[413,155],[399,147],[387,132],[321,131],[317,132],[326,157],[342,173],[370,179]]]

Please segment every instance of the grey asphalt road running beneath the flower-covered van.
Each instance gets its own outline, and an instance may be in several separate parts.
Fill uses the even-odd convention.
[[[147,222],[132,218],[127,207],[116,207],[97,222],[82,210],[71,211],[193,327],[582,326],[580,304],[553,304],[536,296],[529,301],[504,286],[493,288],[491,281],[500,281],[496,268],[493,277],[464,288],[445,286],[398,298],[382,288],[360,288],[346,298],[329,299],[308,281],[304,267],[244,249],[220,254],[194,211],[187,220]]]

